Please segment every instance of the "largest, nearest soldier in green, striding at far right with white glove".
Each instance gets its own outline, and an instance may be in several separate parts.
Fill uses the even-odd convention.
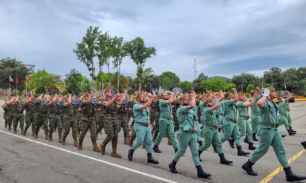
[[[258,126],[259,147],[255,149],[250,159],[248,159],[248,162],[243,164],[241,168],[249,175],[257,176],[252,166],[268,152],[270,146],[273,146],[277,159],[286,173],[286,180],[288,182],[306,180],[305,176],[294,174],[287,161],[282,137],[277,128],[277,105],[273,102],[273,99],[276,97],[277,92],[275,88],[269,87],[269,89],[264,90],[264,96],[262,96],[257,103],[260,108],[260,121]]]

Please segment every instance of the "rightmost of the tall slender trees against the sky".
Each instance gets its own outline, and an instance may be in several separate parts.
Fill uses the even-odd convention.
[[[137,65],[136,76],[140,80],[139,89],[144,81],[143,67],[145,66],[145,61],[151,58],[152,55],[156,55],[156,49],[154,47],[146,47],[143,38],[136,37],[134,40],[127,42],[127,53]]]

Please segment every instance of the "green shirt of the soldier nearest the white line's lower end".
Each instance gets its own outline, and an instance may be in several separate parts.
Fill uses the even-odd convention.
[[[179,106],[177,109],[177,119],[179,120],[179,128],[183,128],[183,131],[193,130],[195,113],[193,109],[187,110],[188,106]]]

